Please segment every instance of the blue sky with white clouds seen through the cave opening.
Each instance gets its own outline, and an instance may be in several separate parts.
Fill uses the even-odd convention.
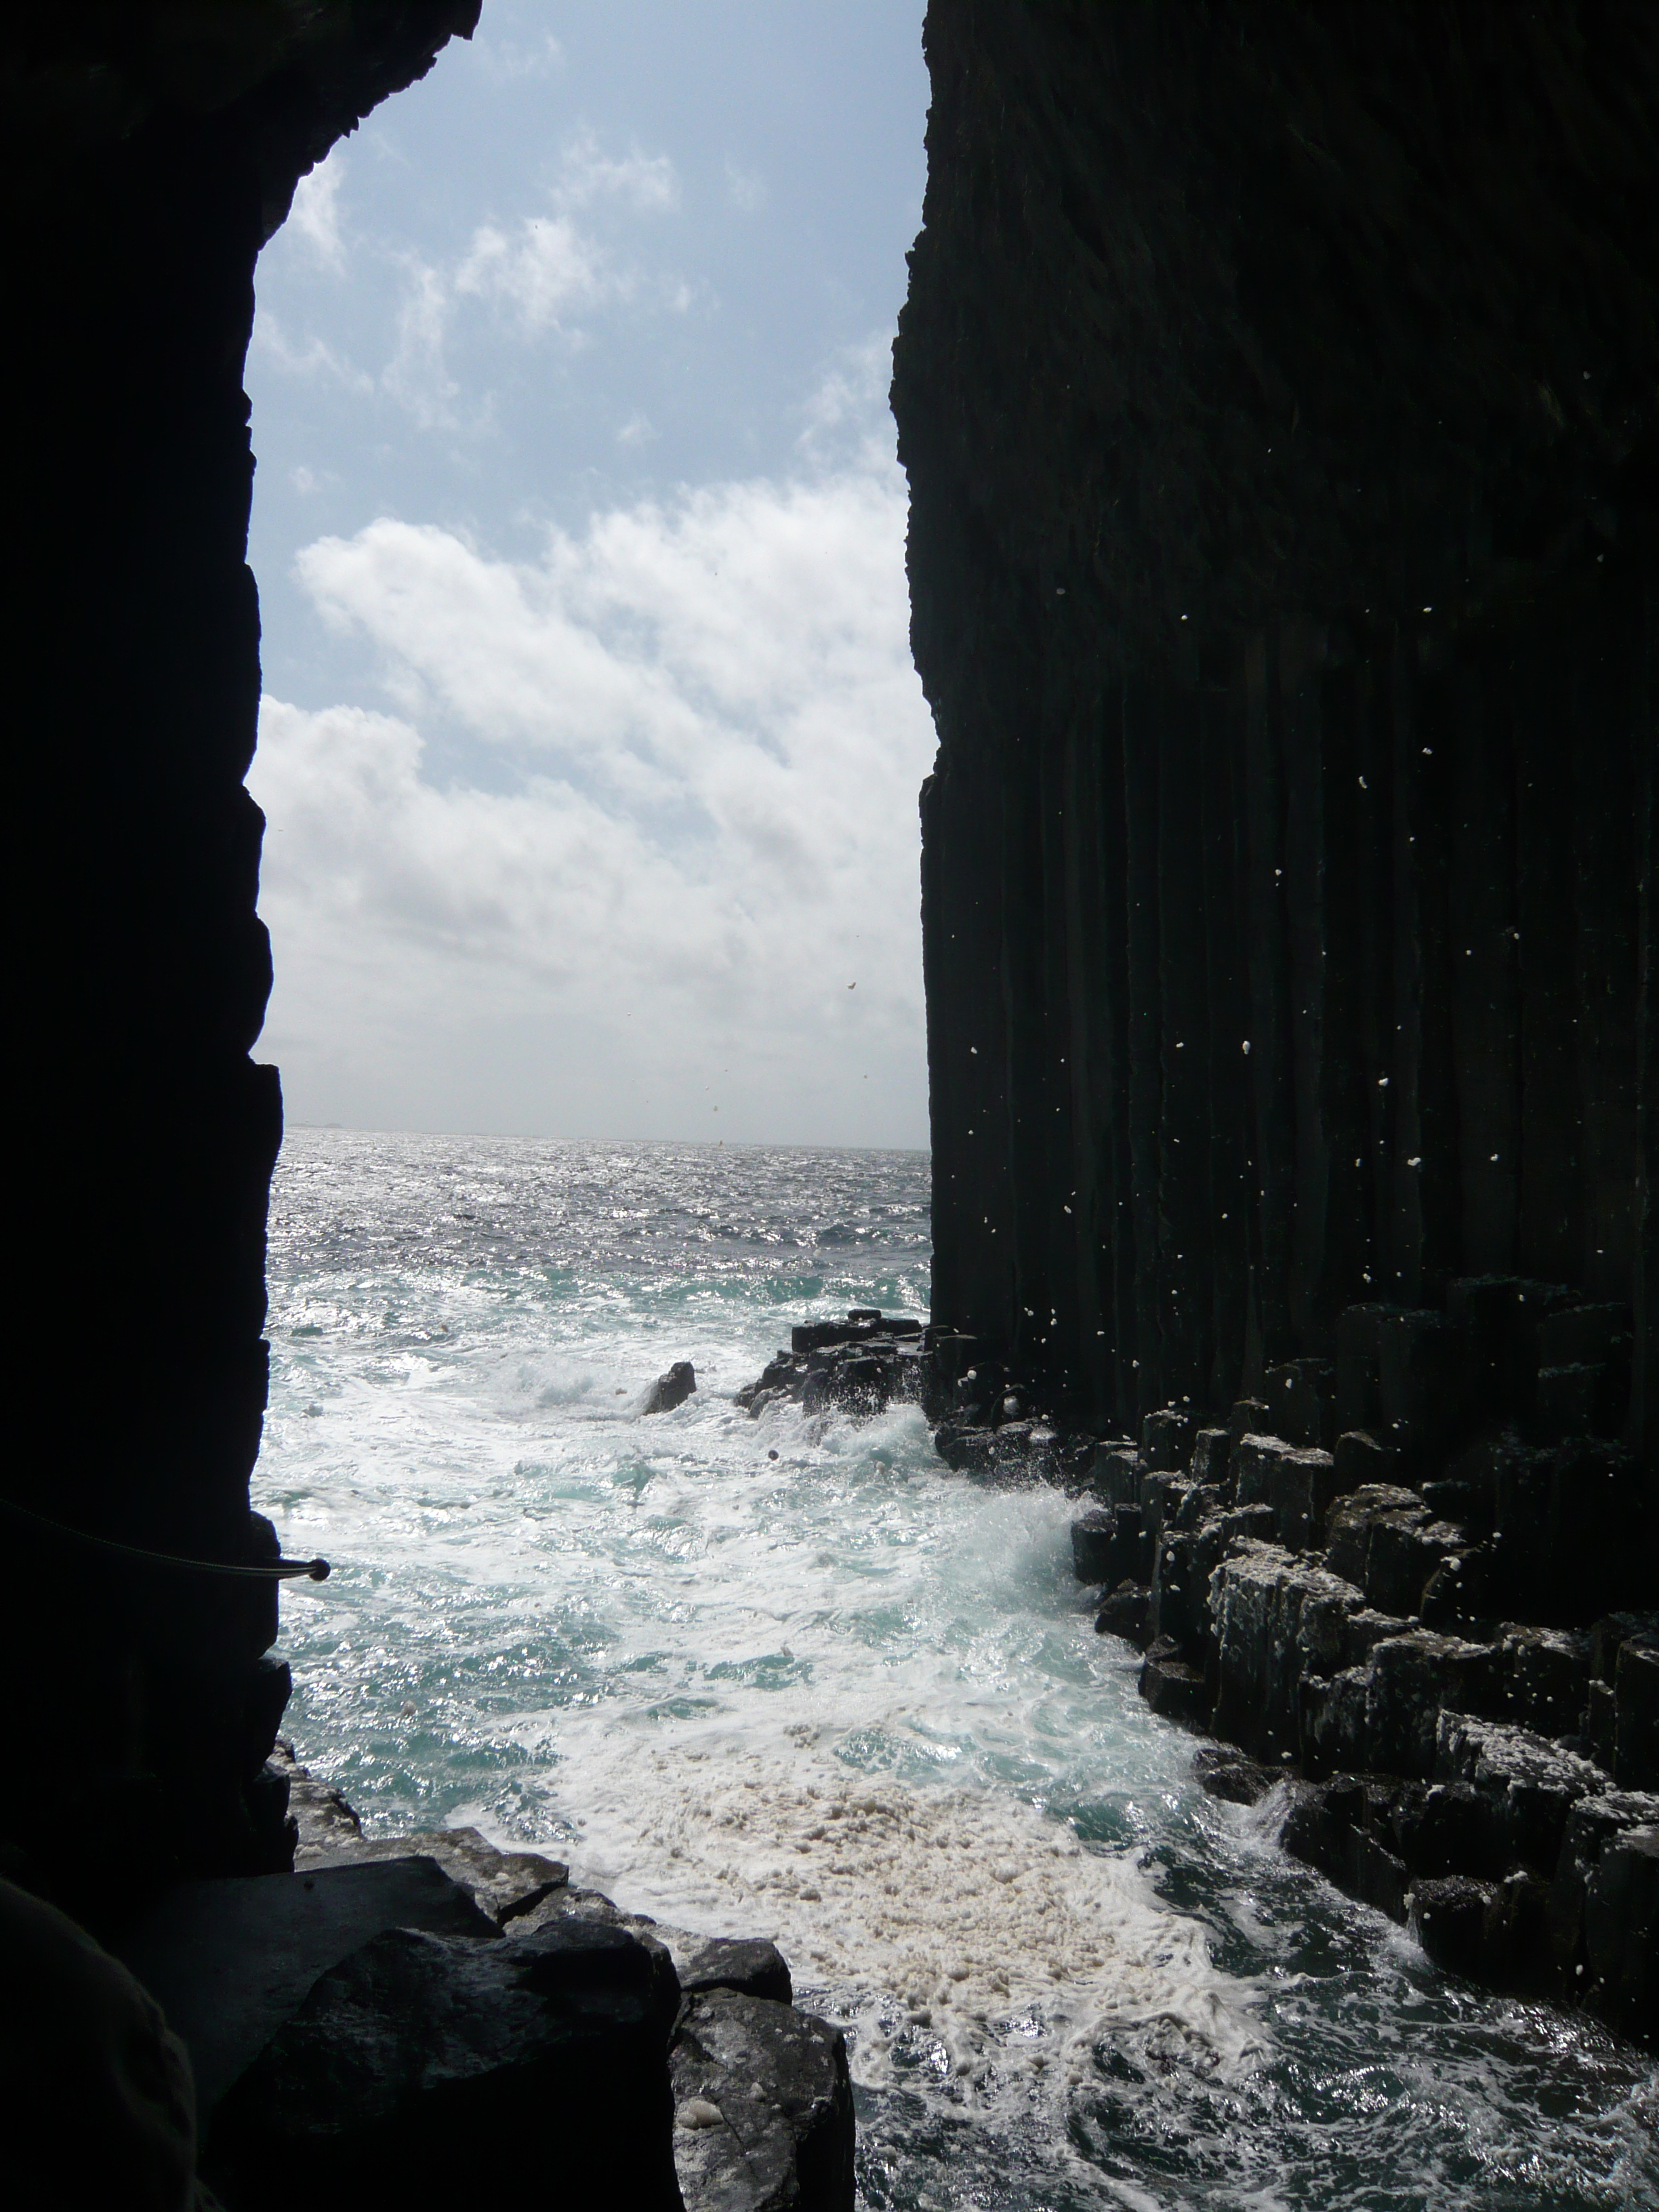
[[[922,0],[484,0],[294,195],[248,394],[290,1121],[927,1144]]]

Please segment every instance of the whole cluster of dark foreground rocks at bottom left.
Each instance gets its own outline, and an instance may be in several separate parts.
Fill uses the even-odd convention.
[[[288,1743],[270,1774],[294,1871],[184,1885],[124,1949],[190,2051],[228,2212],[314,2159],[374,2203],[553,2170],[641,2212],[852,2212],[845,2037],[776,1944],[619,1911],[469,1827],[369,1838]]]

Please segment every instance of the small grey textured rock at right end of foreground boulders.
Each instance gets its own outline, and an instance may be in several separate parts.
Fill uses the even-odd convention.
[[[852,2212],[852,2081],[838,2028],[710,1991],[686,2000],[668,2064],[688,2212]]]

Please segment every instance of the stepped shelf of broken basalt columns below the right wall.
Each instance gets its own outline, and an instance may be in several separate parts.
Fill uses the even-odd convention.
[[[1095,1626],[1221,1739],[1208,1790],[1281,1790],[1285,1849],[1442,1969],[1659,2042],[1659,1502],[1601,1433],[1628,1312],[1469,1279],[1345,1312],[1336,1354],[1102,1438],[993,1347],[856,1310],[739,1402],[916,1400],[951,1469],[1064,1484]]]

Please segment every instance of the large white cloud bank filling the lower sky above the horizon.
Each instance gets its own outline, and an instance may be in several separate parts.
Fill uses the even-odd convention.
[[[604,513],[533,564],[387,520],[305,549],[473,768],[265,699],[265,1048],[299,1110],[922,1141],[902,542],[883,460]]]

